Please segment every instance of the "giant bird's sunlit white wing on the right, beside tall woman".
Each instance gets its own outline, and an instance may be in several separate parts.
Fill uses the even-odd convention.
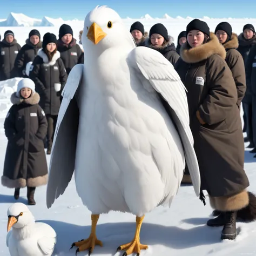
[[[194,140],[190,130],[186,89],[178,73],[161,53],[146,47],[133,49],[129,53],[127,63],[136,70],[138,75],[144,76],[143,86],[153,87],[163,99],[165,109],[177,127],[194,191],[199,196],[200,173],[193,148]]]

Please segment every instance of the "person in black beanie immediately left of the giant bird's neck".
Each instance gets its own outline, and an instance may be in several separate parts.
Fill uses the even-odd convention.
[[[62,58],[66,72],[70,73],[73,66],[84,63],[84,53],[73,38],[71,26],[63,24],[59,28],[58,51]]]

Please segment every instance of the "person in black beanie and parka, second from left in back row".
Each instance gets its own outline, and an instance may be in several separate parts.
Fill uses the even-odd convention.
[[[37,56],[37,52],[42,48],[40,41],[41,35],[38,30],[33,29],[29,33],[29,38],[26,39],[26,44],[22,46],[15,60],[15,69],[18,77],[28,77],[26,75],[26,65],[33,62]]]

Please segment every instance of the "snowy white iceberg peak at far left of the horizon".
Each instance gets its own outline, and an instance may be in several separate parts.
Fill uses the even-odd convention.
[[[0,26],[39,26],[41,19],[30,18],[24,14],[11,12],[5,21],[0,22]]]

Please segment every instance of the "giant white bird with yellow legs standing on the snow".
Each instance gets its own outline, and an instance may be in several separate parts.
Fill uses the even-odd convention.
[[[102,242],[99,214],[137,215],[136,234],[118,247],[123,255],[146,249],[139,241],[144,214],[170,206],[185,159],[196,195],[200,175],[183,83],[159,52],[138,47],[112,9],[97,6],[86,16],[84,64],[70,72],[63,91],[47,187],[47,206],[63,194],[75,171],[76,188],[91,211],[88,239],[79,251]]]

